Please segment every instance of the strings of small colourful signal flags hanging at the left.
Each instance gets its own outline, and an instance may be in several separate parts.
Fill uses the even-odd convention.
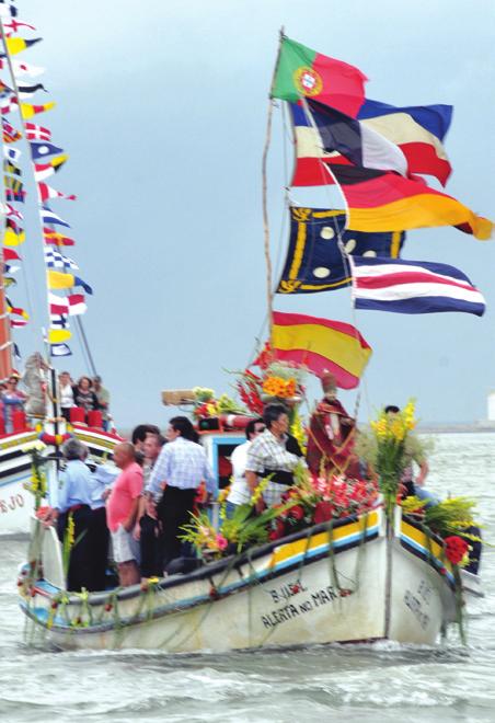
[[[0,19],[3,25],[5,42],[0,48],[0,122],[3,138],[3,184],[4,203],[0,210],[5,216],[3,232],[3,273],[5,286],[14,286],[13,274],[19,268],[12,262],[20,262],[16,248],[25,241],[23,215],[18,204],[24,204],[26,191],[22,182],[20,165],[21,150],[14,145],[23,136],[26,139],[33,175],[37,187],[38,213],[43,227],[46,279],[48,288],[49,329],[47,341],[51,356],[68,356],[71,354],[67,342],[71,338],[69,318],[83,314],[87,311],[84,294],[91,295],[92,288],[74,272],[79,272],[76,261],[66,255],[66,246],[73,246],[74,241],[67,236],[70,223],[55,213],[49,204],[53,200],[76,200],[73,194],[66,194],[54,188],[46,181],[60,171],[68,160],[64,149],[56,146],[51,131],[45,125],[38,125],[31,119],[41,113],[55,107],[54,101],[31,103],[33,96],[48,91],[37,79],[44,73],[44,68],[18,59],[18,55],[42,41],[41,37],[30,37],[36,27],[20,20],[14,0],[0,0]],[[20,35],[21,33],[21,35]],[[24,34],[27,34],[25,37]],[[7,47],[5,47],[7,46]],[[12,64],[15,79],[15,90],[9,82],[10,68],[8,55]],[[15,57],[12,57],[15,56]],[[22,127],[15,126],[10,114],[16,113]],[[9,116],[9,117],[8,117]],[[56,294],[54,292],[56,291]],[[61,291],[61,294],[60,294]],[[67,296],[65,294],[67,292]],[[10,323],[13,328],[25,325],[28,315],[24,309],[7,302]]]

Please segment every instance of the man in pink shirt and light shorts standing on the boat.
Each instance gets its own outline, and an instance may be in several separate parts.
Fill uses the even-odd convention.
[[[115,480],[106,503],[106,519],[112,535],[118,581],[123,587],[127,587],[140,581],[139,542],[133,538],[131,532],[142,494],[142,468],[136,462],[136,450],[129,441],[123,441],[115,447],[114,462],[122,472]]]

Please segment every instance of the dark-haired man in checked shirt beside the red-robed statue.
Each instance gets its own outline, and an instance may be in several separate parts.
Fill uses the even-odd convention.
[[[256,503],[257,512],[280,502],[283,493],[293,484],[293,471],[301,462],[297,454],[287,449],[289,441],[287,409],[283,404],[267,404],[263,410],[263,421],[266,428],[251,443],[245,466],[245,479],[251,494],[261,480],[270,478]]]

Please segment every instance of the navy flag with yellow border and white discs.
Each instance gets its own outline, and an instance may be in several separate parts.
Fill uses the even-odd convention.
[[[333,291],[350,285],[346,254],[400,255],[405,233],[345,230],[343,210],[291,206],[289,248],[277,294]],[[342,244],[345,253],[341,251]]]

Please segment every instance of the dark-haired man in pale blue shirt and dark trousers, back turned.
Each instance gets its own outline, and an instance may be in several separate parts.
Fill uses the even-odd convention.
[[[157,512],[163,528],[163,570],[181,555],[181,527],[189,520],[202,480],[209,495],[216,489],[205,450],[197,444],[189,420],[174,416],[165,436],[169,444],[160,452],[148,483],[148,494],[154,501],[161,496]]]

